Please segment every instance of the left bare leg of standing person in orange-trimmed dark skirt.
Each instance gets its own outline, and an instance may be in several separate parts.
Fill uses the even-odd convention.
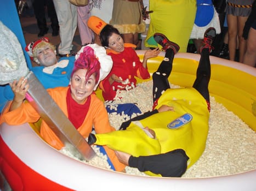
[[[227,15],[227,27],[229,35],[229,59],[235,61],[236,56],[236,38],[237,38],[237,17],[234,15]]]

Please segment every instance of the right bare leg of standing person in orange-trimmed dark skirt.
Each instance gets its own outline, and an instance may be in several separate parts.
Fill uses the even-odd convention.
[[[239,62],[243,62],[244,54],[246,53],[246,40],[243,38],[243,28],[248,17],[238,16],[237,26],[238,26],[238,40],[239,40]]]

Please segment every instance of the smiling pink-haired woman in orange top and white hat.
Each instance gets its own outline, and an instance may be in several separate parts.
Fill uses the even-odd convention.
[[[76,57],[71,71],[70,86],[49,88],[47,91],[84,138],[88,137],[93,127],[95,133],[112,132],[115,128],[110,126],[104,103],[94,93],[99,81],[109,74],[112,59],[106,55],[104,47],[96,44],[83,46]],[[39,120],[37,111],[30,103],[24,102],[29,84],[27,80],[22,82],[23,80],[24,77],[21,77],[20,80],[10,83],[15,96],[3,111],[0,124],[5,122],[16,125]],[[64,146],[44,121],[41,123],[40,135],[49,145],[58,150]],[[104,148],[115,170],[123,171],[125,165],[118,161],[114,151]]]

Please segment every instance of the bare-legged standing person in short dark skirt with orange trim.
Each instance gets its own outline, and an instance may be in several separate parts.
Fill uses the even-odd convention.
[[[227,0],[226,14],[229,34],[229,59],[235,61],[237,35],[239,62],[243,62],[246,52],[246,40],[242,37],[244,24],[252,10],[254,0]]]

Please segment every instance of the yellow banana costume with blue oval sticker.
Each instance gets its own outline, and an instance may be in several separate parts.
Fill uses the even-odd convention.
[[[158,99],[156,109],[162,105],[174,111],[156,113],[140,121],[133,121],[126,130],[96,134],[96,145],[107,145],[113,150],[132,156],[149,156],[183,149],[190,158],[188,168],[204,151],[208,134],[209,111],[206,100],[195,88],[167,89]],[[144,128],[156,133],[150,138]],[[152,176],[159,176],[146,172]]]

